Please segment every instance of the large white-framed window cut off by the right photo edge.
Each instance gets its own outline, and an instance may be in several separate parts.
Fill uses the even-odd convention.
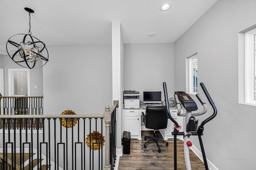
[[[245,103],[256,104],[256,29],[245,32]]]

